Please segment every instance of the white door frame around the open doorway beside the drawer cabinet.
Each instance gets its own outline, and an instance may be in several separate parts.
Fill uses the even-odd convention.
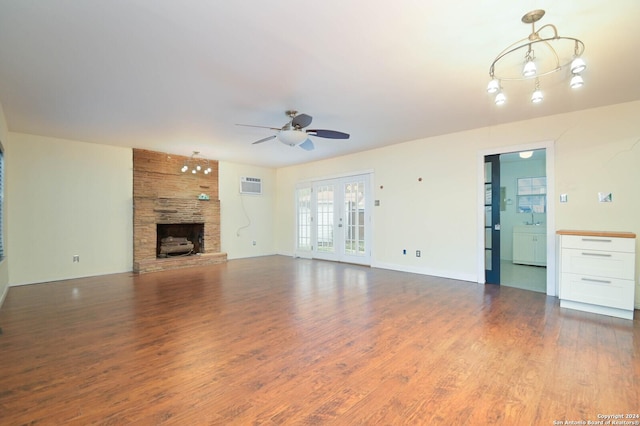
[[[535,149],[546,150],[547,174],[547,295],[558,295],[558,280],[556,274],[556,215],[555,215],[555,141],[543,141],[522,145],[511,145],[491,148],[478,152],[478,201],[477,205],[477,274],[478,283],[484,284],[485,253],[484,253],[484,157],[494,154],[528,151]]]

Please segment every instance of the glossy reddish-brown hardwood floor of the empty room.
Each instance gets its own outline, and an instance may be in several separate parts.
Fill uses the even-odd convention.
[[[638,319],[354,265],[268,256],[12,287],[0,327],[3,425],[552,425],[640,411]]]

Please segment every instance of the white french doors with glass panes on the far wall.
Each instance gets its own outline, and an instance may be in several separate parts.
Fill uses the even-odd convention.
[[[366,174],[298,187],[298,255],[371,264],[370,180]]]

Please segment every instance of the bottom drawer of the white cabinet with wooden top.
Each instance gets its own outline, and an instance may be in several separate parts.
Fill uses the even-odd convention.
[[[633,280],[562,274],[560,298],[633,310]]]

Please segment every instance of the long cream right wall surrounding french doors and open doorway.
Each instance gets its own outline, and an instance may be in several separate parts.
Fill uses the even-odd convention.
[[[638,111],[636,101],[278,169],[276,248],[293,251],[296,182],[373,169],[381,202],[373,212],[373,265],[479,281],[478,155],[540,141],[555,141],[555,193],[569,195],[569,203],[555,203],[557,229],[640,234]],[[614,202],[598,203],[598,191],[612,191]],[[404,248],[422,257],[403,256]]]

